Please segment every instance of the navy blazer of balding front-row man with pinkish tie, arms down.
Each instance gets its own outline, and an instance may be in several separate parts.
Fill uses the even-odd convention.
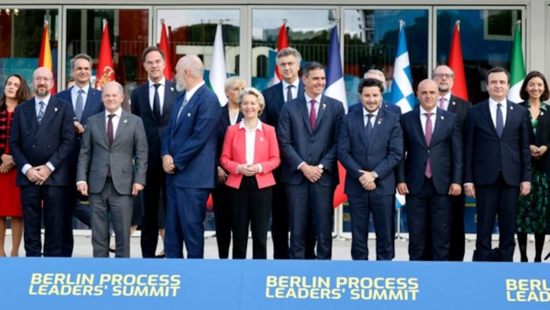
[[[401,128],[406,156],[397,169],[398,183],[405,182],[412,195],[420,193],[429,157],[437,193],[446,195],[451,183],[462,184],[462,131],[456,114],[437,108],[429,147],[422,131],[419,108],[401,116]]]

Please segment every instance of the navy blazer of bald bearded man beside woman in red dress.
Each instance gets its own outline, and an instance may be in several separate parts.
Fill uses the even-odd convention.
[[[36,119],[34,97],[17,106],[10,131],[10,152],[17,164],[17,186],[32,184],[21,172],[24,165],[36,167],[47,162],[52,163],[55,170],[45,184],[69,185],[66,160],[74,144],[73,117],[72,105],[56,97],[50,97],[40,124]]]

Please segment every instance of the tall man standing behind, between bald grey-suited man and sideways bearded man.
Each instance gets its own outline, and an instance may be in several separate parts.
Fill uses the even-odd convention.
[[[177,95],[176,84],[164,77],[166,66],[164,51],[156,46],[147,47],[142,62],[148,81],[135,88],[131,96],[132,113],[141,117],[149,146],[147,187],[143,191],[142,256],[155,257],[159,239],[159,207],[166,206],[166,174],[162,169],[160,145],[164,128],[172,116]]]

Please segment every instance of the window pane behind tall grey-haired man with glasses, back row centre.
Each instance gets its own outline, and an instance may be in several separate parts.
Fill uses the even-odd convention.
[[[278,33],[286,19],[288,45],[298,49],[303,62],[327,64],[335,10],[253,10],[252,86],[263,89],[274,76]],[[307,18],[305,18],[307,16]]]

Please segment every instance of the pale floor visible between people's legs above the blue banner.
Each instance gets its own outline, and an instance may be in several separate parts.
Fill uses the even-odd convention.
[[[10,250],[12,248],[12,239],[11,239],[11,233],[10,230],[8,230],[8,236],[6,236],[5,239],[5,252],[8,254],[10,253]],[[91,251],[91,236],[89,235],[89,230],[75,230],[75,246],[74,246],[74,257],[92,257],[92,251]],[[207,232],[205,234],[207,237],[205,237],[205,249],[204,249],[204,258],[205,259],[217,259],[218,258],[218,252],[217,252],[217,243],[216,238],[213,236],[212,232]],[[404,235],[406,237],[406,235]],[[467,235],[468,241],[466,241],[466,253],[465,253],[465,261],[472,261],[472,254],[474,252],[475,248],[475,241],[474,235]],[[498,237],[498,236],[495,236]],[[112,241],[114,243],[114,239]],[[494,246],[497,246],[497,242],[494,241]],[[408,261],[408,253],[407,253],[407,247],[408,247],[408,241],[406,239],[398,239],[395,241],[395,261]],[[333,260],[351,260],[351,254],[350,254],[350,248],[351,248],[351,239],[342,238],[342,237],[335,237],[333,239],[333,251],[332,251],[332,258]],[[159,238],[159,246],[157,248],[157,252],[160,252],[162,250],[162,242]],[[267,240],[267,257],[273,257],[272,252],[272,241],[269,238]],[[369,252],[370,252],[370,259],[375,259],[375,240],[374,236],[369,239]],[[532,240],[530,240],[528,244],[528,253],[529,253],[529,259],[532,261],[534,256],[534,243]],[[550,251],[550,241],[545,243],[544,245],[544,251],[543,256],[545,256]],[[141,256],[141,249],[140,249],[140,232],[137,231],[133,237],[131,238],[131,246],[130,246],[130,252],[131,257],[134,258],[140,258]],[[21,248],[19,249],[19,255],[24,256],[25,250],[23,248],[23,244],[21,244]],[[113,256],[113,254],[111,254]],[[252,239],[249,239],[248,242],[248,257],[252,257]],[[519,253],[516,247],[516,252],[514,253],[514,261],[519,261]],[[549,261],[550,262],[550,259]]]

